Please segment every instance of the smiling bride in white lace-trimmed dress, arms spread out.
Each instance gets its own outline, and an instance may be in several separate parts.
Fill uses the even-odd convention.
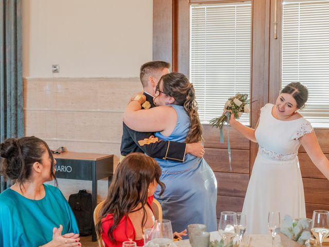
[[[321,151],[310,123],[297,113],[304,107],[307,88],[299,82],[284,87],[275,105],[261,109],[255,129],[242,125],[231,114],[230,125],[259,144],[243,204],[248,234],[267,234],[269,211],[305,218],[303,181],[298,148],[304,147],[318,169],[329,179],[329,161]]]

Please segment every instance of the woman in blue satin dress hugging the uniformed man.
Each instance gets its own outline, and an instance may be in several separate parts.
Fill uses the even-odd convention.
[[[164,75],[155,92],[154,103],[159,107],[148,110],[141,110],[143,95],[132,98],[123,117],[126,125],[136,131],[156,132],[152,142],[201,142],[195,92],[187,77],[180,73]],[[181,232],[192,223],[206,224],[208,232],[215,231],[217,182],[204,158],[187,154],[182,163],[156,161],[166,190],[160,197],[158,188],[154,195],[162,205],[163,218],[171,220],[173,231]]]

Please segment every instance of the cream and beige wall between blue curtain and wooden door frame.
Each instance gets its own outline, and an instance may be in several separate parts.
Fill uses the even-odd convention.
[[[153,1],[22,2],[26,135],[52,149],[115,154],[117,164],[124,105],[142,90],[139,68],[152,60]],[[90,181],[58,182],[66,198],[91,190]],[[99,200],[106,195],[105,179]]]

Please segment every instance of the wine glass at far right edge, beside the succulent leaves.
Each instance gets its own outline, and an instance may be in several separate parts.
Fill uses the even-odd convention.
[[[312,217],[312,228],[310,231],[316,237],[322,247],[323,240],[329,236],[329,211],[314,210]]]

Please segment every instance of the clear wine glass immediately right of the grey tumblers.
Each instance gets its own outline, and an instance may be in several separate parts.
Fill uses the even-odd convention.
[[[228,245],[235,237],[234,225],[236,225],[236,214],[232,211],[221,212],[218,233],[224,240],[224,245]]]

